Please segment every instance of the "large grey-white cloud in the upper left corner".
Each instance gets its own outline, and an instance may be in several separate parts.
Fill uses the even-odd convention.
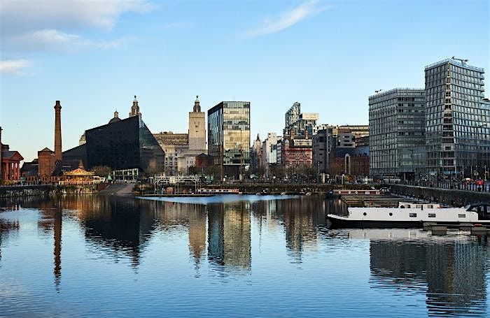
[[[146,13],[155,8],[148,0],[1,1],[0,42],[4,52],[113,48],[125,39],[96,40],[86,34],[110,31],[125,13]]]

